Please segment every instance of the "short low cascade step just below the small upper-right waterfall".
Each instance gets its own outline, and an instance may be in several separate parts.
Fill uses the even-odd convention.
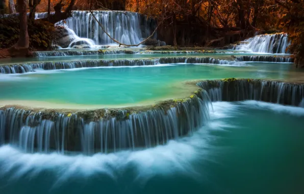
[[[255,61],[255,62],[276,62],[276,63],[292,63],[292,57],[282,56],[237,56],[238,61]]]

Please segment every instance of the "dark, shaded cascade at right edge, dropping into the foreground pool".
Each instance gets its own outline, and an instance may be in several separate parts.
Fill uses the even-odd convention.
[[[211,101],[256,100],[302,106],[304,84],[252,79],[207,80],[197,83],[205,89]]]

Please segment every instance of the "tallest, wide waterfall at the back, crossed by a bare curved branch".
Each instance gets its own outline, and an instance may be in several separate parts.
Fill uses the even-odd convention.
[[[93,14],[114,39],[124,44],[138,44],[141,38],[148,37],[155,29],[154,20],[147,19],[146,16],[136,12],[93,11]],[[46,13],[36,14],[36,18],[45,16]],[[75,35],[91,39],[95,44],[115,43],[99,27],[89,11],[72,11],[72,17],[66,19],[65,22]]]

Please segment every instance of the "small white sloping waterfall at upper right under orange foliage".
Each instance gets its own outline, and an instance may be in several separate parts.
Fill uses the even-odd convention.
[[[263,34],[244,40],[241,44],[236,45],[234,50],[247,50],[254,53],[286,54],[289,53],[286,51],[289,44],[288,35],[285,33]]]

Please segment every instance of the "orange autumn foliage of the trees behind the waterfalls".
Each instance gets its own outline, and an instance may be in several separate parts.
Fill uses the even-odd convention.
[[[59,2],[63,4],[62,10],[65,10],[71,1],[73,0],[50,0],[50,11],[54,11],[55,5]],[[290,50],[296,54],[297,61],[303,61],[303,1],[76,0],[72,3],[72,10],[94,9],[140,12],[163,22],[162,29],[165,34],[173,39],[173,44],[204,44],[209,40],[231,34],[231,32],[242,36],[246,35],[246,32],[257,30],[284,31],[289,34],[292,40]],[[7,2],[6,4],[8,4]],[[46,12],[47,9],[48,0],[41,0],[36,12]],[[229,40],[233,41],[234,39]]]

